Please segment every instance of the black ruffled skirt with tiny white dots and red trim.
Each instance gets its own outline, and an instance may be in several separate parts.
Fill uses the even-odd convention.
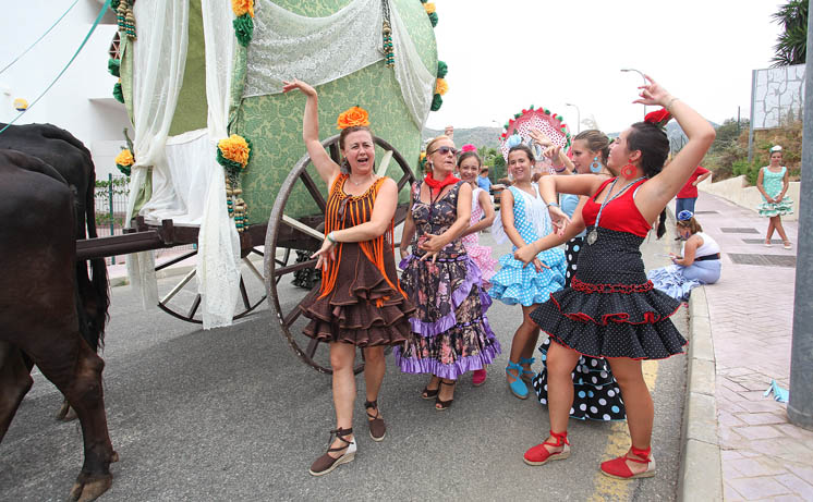
[[[587,234],[592,228],[587,229]],[[663,359],[683,352],[685,339],[669,320],[680,303],[646,279],[644,237],[597,229],[580,248],[570,286],[531,314],[551,340],[592,357]]]

